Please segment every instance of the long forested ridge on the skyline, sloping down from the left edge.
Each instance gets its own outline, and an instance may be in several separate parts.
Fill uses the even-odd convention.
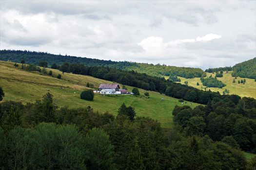
[[[134,70],[139,73],[146,73],[155,77],[169,76],[174,74],[184,78],[201,77],[204,75],[204,71],[200,68],[185,68],[166,65],[153,65],[145,63],[135,63],[127,61],[111,61],[111,60],[99,60],[86,57],[76,57],[67,55],[55,55],[47,52],[37,51],[15,51],[15,50],[1,50],[0,60],[12,61],[20,63],[24,60],[27,64],[39,65],[40,61],[46,61],[48,66],[56,63],[61,65],[64,62],[67,63],[81,63],[87,66],[104,66],[110,68],[118,68],[123,70]]]

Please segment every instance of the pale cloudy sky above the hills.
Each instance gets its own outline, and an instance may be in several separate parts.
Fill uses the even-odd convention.
[[[0,49],[233,66],[256,57],[256,0],[0,0]]]

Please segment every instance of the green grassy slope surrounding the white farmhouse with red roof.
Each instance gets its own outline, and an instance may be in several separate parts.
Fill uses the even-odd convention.
[[[80,92],[85,89],[89,82],[98,87],[100,83],[112,83],[90,76],[65,73],[64,75],[56,69],[52,70],[53,75],[61,74],[61,80],[40,75],[38,72],[28,72],[19,68],[14,68],[14,63],[0,61],[0,86],[3,88],[5,97],[3,101],[14,100],[35,102],[41,99],[44,94],[50,92],[54,95],[54,100],[58,106],[87,107],[90,105],[95,111],[103,113],[109,111],[117,115],[119,106],[124,102],[126,105],[135,107],[138,116],[151,117],[157,119],[163,127],[170,127],[173,123],[172,110],[175,105],[181,105],[177,99],[161,95],[150,91],[150,99],[142,95],[135,97],[131,95],[119,95],[114,97],[95,95],[94,102],[84,101],[79,98]],[[64,87],[64,89],[60,88]],[[129,90],[130,86],[126,86]],[[139,89],[143,94],[145,90]],[[76,92],[76,93],[74,93]],[[161,101],[161,98],[164,101]],[[195,107],[197,103],[184,103]]]

